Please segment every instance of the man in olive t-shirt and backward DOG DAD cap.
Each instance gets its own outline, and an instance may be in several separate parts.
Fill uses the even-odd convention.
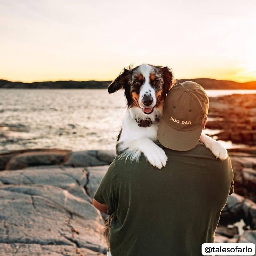
[[[220,161],[198,143],[209,100],[194,82],[168,93],[158,139],[168,156],[165,168],[118,157],[94,196],[94,206],[113,213],[112,256],[198,256],[213,243],[220,212],[233,192],[230,159]]]

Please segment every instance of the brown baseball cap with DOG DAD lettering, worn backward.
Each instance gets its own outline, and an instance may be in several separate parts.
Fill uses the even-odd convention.
[[[159,142],[178,151],[195,148],[208,107],[209,98],[201,85],[192,81],[174,85],[164,101],[157,132]]]

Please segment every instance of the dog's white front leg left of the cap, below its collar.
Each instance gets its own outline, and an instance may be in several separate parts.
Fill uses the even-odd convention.
[[[147,158],[148,162],[153,166],[161,169],[167,163],[167,156],[164,150],[158,147],[151,139],[141,138],[138,140],[132,140],[129,143],[129,151],[142,152]]]

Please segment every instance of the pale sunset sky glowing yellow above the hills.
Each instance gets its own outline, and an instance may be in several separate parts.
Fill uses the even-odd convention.
[[[0,0],[0,78],[112,80],[130,63],[176,79],[256,80],[256,1]]]

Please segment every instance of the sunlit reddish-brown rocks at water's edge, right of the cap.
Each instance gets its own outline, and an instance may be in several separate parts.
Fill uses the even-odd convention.
[[[210,98],[208,129],[218,129],[218,140],[256,145],[256,94]]]

